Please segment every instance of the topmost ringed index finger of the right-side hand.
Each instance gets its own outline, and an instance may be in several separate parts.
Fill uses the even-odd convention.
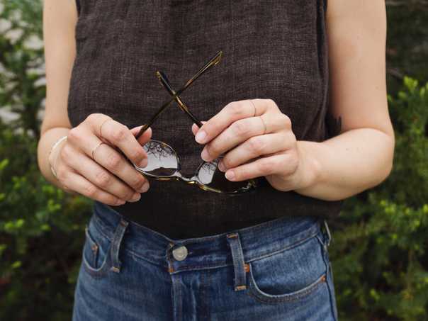
[[[270,102],[268,103],[268,101],[271,101],[271,99],[252,99],[252,101],[254,106],[256,106],[256,116],[264,114],[268,108],[273,107],[271,106]],[[253,103],[249,100],[232,101],[232,103],[228,103],[219,113],[210,118],[198,130],[198,133],[195,137],[196,142],[205,144],[223,132],[225,128],[234,123],[236,120],[253,117]]]

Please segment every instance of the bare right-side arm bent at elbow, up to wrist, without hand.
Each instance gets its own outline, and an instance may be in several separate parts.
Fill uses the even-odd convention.
[[[331,113],[342,133],[298,142],[312,164],[303,195],[339,200],[380,184],[393,166],[394,132],[385,83],[385,2],[329,0]]]

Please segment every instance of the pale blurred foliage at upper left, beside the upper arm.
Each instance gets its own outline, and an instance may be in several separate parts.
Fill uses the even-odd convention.
[[[18,114],[15,128],[40,132],[38,112],[45,98],[42,2],[0,0],[0,106]]]

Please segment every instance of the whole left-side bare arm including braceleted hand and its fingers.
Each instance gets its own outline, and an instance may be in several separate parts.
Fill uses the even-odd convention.
[[[148,190],[149,183],[133,164],[147,165],[147,153],[142,145],[150,139],[151,129],[137,141],[135,134],[140,127],[129,129],[101,113],[92,113],[74,128],[69,122],[67,98],[76,57],[76,23],[74,0],[44,1],[47,93],[38,142],[40,171],[48,181],[65,191],[77,192],[109,205],[138,201],[140,193]],[[67,140],[57,145],[49,157],[52,145],[64,135]],[[96,153],[93,153],[95,147]],[[121,156],[116,147],[133,164]],[[51,164],[57,178],[50,170]]]

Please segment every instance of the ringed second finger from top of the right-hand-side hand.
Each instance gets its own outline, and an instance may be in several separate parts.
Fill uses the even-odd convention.
[[[250,137],[263,135],[265,131],[265,123],[269,128],[269,133],[283,130],[283,120],[278,113],[265,113],[262,116],[242,118],[232,123],[220,135],[208,142],[203,148],[201,157],[206,162],[210,162],[231,150],[233,147],[248,140]],[[264,119],[261,120],[260,118]],[[269,124],[269,125],[268,125]]]

